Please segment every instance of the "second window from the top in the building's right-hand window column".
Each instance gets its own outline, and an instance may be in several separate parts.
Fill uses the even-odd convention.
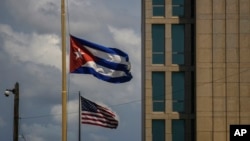
[[[172,64],[184,64],[185,26],[173,24],[172,30]]]

